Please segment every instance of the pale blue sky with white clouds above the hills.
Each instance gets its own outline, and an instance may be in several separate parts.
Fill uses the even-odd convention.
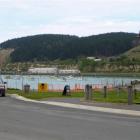
[[[36,34],[140,30],[140,0],[0,0],[0,42]]]

